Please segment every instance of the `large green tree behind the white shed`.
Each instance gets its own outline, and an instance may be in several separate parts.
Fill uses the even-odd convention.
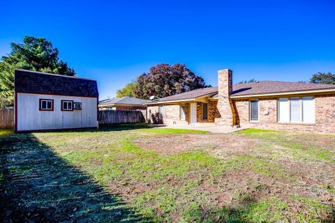
[[[25,36],[23,43],[11,43],[10,48],[10,54],[0,61],[0,107],[13,106],[15,68],[75,75],[75,70],[59,59],[58,49],[45,38]]]

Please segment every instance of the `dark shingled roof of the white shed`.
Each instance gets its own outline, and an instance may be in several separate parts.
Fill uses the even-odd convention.
[[[46,72],[15,69],[15,91],[48,95],[98,97],[93,79],[55,75]]]

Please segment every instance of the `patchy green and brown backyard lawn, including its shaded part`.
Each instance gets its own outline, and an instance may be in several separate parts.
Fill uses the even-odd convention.
[[[335,220],[335,137],[146,127],[0,132],[3,220]],[[218,139],[244,141],[244,147],[237,153]],[[172,147],[173,153],[165,152]]]

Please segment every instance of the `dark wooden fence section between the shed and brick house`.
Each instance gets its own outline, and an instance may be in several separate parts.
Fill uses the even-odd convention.
[[[112,109],[99,111],[100,125],[144,122],[145,118],[141,111]]]

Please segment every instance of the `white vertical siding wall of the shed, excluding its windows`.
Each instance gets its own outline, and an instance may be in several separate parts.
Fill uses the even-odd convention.
[[[54,111],[40,111],[40,98],[53,99]],[[82,109],[61,111],[61,100],[82,102]],[[17,93],[17,131],[96,128],[97,116],[97,98]]]

